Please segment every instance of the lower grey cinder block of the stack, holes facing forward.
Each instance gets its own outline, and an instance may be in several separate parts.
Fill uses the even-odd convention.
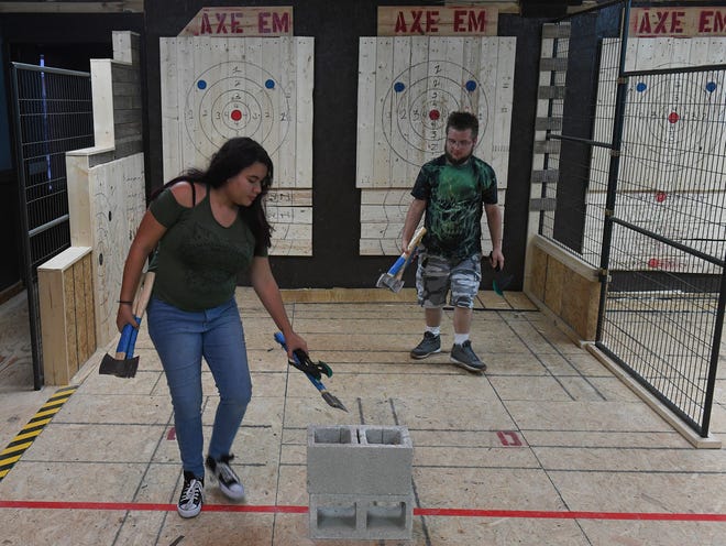
[[[414,494],[311,494],[310,538],[410,539]]]

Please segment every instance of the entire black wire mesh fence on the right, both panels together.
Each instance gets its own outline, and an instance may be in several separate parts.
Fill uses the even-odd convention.
[[[726,66],[663,67],[669,42],[628,41],[627,12],[566,18],[566,40],[543,40],[568,69],[549,100],[562,129],[547,134],[560,146],[540,234],[604,273],[597,347],[706,436],[726,306]],[[707,42],[690,47],[703,58]],[[634,69],[639,51],[661,66]]]

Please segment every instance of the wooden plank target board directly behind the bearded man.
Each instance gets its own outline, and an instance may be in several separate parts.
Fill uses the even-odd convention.
[[[359,50],[358,168],[361,254],[400,252],[410,189],[441,155],[453,111],[479,118],[474,154],[507,186],[515,37],[362,37]],[[504,205],[504,192],[499,193]],[[488,229],[483,233],[488,237]]]

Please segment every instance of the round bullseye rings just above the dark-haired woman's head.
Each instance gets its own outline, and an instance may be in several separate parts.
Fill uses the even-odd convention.
[[[250,136],[277,152],[290,130],[290,105],[275,76],[246,62],[217,64],[199,74],[186,94],[184,124],[209,159],[224,141]]]

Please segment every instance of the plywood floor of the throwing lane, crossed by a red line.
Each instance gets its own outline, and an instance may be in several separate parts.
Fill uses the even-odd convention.
[[[444,352],[409,359],[422,313],[407,288],[285,297],[311,356],[332,367],[327,386],[350,413],[327,406],[287,367],[272,320],[240,290],[254,385],[233,447],[245,502],[230,503],[209,482],[202,513],[177,515],[172,406],[142,328],[136,378],[99,375],[112,347],[99,351],[0,480],[0,544],[316,544],[306,513],[311,424],[406,426],[414,444],[411,540],[317,544],[726,544],[726,449],[695,449],[524,295],[480,297],[472,339],[488,364],[484,375],[449,362],[450,312]],[[722,367],[715,437],[726,436],[725,376]],[[45,402],[57,390],[3,390],[0,411],[8,416],[22,398]],[[205,392],[208,435],[218,398],[207,370]],[[1,422],[6,445],[31,417],[15,413]]]

